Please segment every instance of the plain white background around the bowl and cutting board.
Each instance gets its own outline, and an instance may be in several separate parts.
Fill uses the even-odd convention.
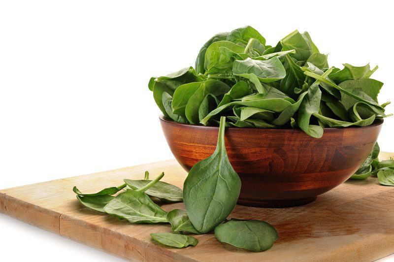
[[[213,34],[251,25],[275,45],[308,31],[330,65],[379,65],[394,100],[389,1],[0,1],[0,188],[172,158],[151,76],[194,66]],[[387,107],[394,112],[394,106]],[[394,151],[394,117],[379,137]],[[2,256],[116,258],[0,214]]]

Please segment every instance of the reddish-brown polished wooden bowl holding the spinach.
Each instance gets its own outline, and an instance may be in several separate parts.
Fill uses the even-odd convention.
[[[187,171],[215,151],[218,127],[179,124],[163,116],[160,120],[172,153]],[[360,167],[382,123],[327,128],[322,138],[296,129],[226,128],[227,153],[242,183],[238,204],[286,207],[312,202]]]

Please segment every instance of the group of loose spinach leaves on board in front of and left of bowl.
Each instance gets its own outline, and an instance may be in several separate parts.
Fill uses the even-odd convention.
[[[160,181],[164,172],[149,180],[148,171],[144,180],[124,179],[125,184],[98,193],[83,194],[76,187],[73,191],[83,205],[130,223],[169,223],[173,232],[151,234],[155,241],[166,246],[195,246],[197,238],[188,234],[214,231],[221,242],[255,252],[268,250],[278,238],[276,229],[270,224],[259,220],[227,220],[238,199],[241,181],[227,156],[225,128],[226,117],[221,117],[215,152],[192,167],[183,192]],[[115,194],[118,195],[113,196]],[[186,210],[166,212],[154,200],[162,203],[184,201]]]

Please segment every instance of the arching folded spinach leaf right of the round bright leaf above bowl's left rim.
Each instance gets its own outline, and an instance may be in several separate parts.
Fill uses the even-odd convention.
[[[198,109],[202,103],[202,100],[208,94],[212,94],[216,97],[226,94],[230,91],[230,87],[219,80],[206,80],[201,83],[201,86],[196,90],[193,96],[189,99],[185,107],[185,115],[187,120],[191,124],[197,124],[199,122]]]

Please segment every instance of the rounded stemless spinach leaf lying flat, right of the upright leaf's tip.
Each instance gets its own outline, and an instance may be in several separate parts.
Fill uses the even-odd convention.
[[[262,252],[272,247],[278,232],[265,221],[231,219],[215,228],[215,237],[220,242]]]

